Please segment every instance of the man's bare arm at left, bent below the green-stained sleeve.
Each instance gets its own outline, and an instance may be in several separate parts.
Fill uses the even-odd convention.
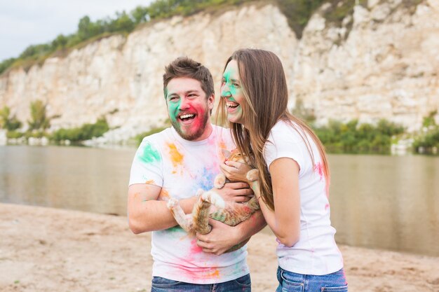
[[[128,223],[135,234],[163,230],[177,225],[177,221],[166,206],[159,201],[161,187],[151,184],[134,184],[128,188]],[[196,197],[180,200],[184,213],[190,213]]]

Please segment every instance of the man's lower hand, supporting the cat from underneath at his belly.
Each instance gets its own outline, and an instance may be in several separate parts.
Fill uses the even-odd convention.
[[[206,253],[214,253],[219,256],[231,249],[232,246],[245,240],[245,238],[241,238],[242,235],[239,234],[239,228],[229,226],[212,218],[209,218],[209,225],[212,226],[210,233],[205,235],[196,234],[198,239],[196,244],[203,248],[203,251]]]

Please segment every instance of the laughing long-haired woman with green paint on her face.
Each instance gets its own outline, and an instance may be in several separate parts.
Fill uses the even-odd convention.
[[[278,241],[276,291],[348,291],[330,223],[325,150],[288,113],[281,61],[266,50],[237,50],[227,60],[221,97],[219,111],[238,149],[260,172],[258,202]],[[241,168],[222,165],[229,179],[247,181]]]

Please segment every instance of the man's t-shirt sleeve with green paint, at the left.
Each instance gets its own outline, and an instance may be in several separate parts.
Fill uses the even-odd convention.
[[[133,165],[131,165],[129,185],[135,183],[163,186],[161,153],[149,137],[143,139],[135,153]]]

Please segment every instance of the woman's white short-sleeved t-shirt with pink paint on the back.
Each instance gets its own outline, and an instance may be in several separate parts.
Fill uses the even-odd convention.
[[[304,132],[292,122],[302,136]],[[278,158],[292,158],[300,167],[300,237],[292,247],[278,241],[279,266],[298,274],[330,274],[343,267],[342,253],[335,244],[335,228],[331,226],[330,205],[320,153],[311,137],[314,165],[306,144],[295,128],[278,121],[271,129],[264,146],[264,158],[269,167]]]

